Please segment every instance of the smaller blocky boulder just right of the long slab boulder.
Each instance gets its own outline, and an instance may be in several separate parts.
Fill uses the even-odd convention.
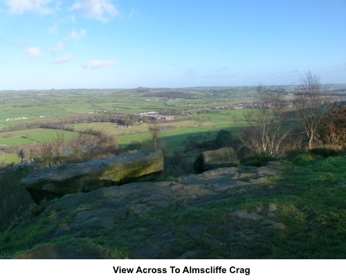
[[[232,148],[226,147],[214,151],[203,151],[194,162],[194,171],[201,173],[219,167],[237,167],[239,160]]]

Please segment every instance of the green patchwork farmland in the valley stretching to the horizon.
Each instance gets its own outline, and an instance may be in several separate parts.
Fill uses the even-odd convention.
[[[345,100],[346,86],[334,85],[337,100]],[[292,99],[291,86],[285,98]],[[118,126],[109,118],[160,112],[174,115],[162,122],[167,152],[183,151],[188,136],[199,140],[215,137],[221,129],[242,125],[244,112],[255,102],[255,87],[64,89],[0,92],[0,146],[13,147],[43,143],[64,129],[66,139],[86,130],[106,131],[117,137],[125,149],[134,141],[149,140],[148,123]],[[49,125],[46,125],[49,124]],[[0,154],[0,162],[13,162],[14,155]]]

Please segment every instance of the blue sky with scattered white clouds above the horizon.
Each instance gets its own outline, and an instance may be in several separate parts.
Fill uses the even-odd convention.
[[[346,0],[0,0],[0,90],[346,84]]]

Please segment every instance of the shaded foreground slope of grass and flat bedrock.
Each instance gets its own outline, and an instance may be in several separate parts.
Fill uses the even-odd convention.
[[[345,259],[345,166],[302,156],[67,195],[3,233],[0,256]]]

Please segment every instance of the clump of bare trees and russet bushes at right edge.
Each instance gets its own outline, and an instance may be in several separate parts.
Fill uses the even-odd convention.
[[[313,149],[322,144],[346,146],[346,105],[333,103],[328,85],[307,72],[293,88],[293,107],[282,87],[257,87],[257,109],[244,114],[239,127],[242,145],[253,155],[283,157],[289,149]]]

